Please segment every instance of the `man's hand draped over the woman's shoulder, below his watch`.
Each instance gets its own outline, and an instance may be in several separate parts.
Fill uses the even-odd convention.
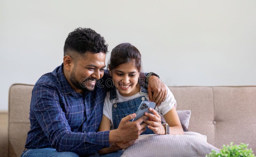
[[[153,93],[153,96],[152,96]],[[150,76],[148,78],[148,97],[149,101],[155,102],[159,106],[164,102],[167,95],[166,86],[156,76]]]

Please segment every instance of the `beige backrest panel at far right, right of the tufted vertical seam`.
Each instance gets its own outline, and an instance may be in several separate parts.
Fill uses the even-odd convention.
[[[234,142],[256,151],[256,88],[212,87],[215,103],[215,146]],[[223,143],[225,141],[225,143]]]

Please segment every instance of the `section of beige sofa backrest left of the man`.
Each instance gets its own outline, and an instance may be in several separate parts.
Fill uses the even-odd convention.
[[[29,131],[29,105],[34,85],[13,84],[9,89],[8,156],[20,157]]]

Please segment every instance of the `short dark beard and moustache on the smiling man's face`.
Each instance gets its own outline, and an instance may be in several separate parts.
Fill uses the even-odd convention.
[[[71,75],[70,75],[70,81],[72,82],[72,84],[78,88],[78,89],[81,89],[82,91],[88,91],[88,92],[91,92],[94,90],[94,87],[93,88],[88,88],[88,80],[95,80],[93,78],[86,78],[86,79],[81,79],[80,82],[77,81],[77,78],[76,78],[76,75],[75,75],[75,72],[76,72],[76,66],[73,68],[72,72],[71,72]]]

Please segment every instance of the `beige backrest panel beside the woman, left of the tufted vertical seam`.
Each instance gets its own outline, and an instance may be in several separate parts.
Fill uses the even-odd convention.
[[[214,102],[212,87],[169,87],[177,102],[176,110],[190,110],[188,131],[207,136],[215,145]]]

